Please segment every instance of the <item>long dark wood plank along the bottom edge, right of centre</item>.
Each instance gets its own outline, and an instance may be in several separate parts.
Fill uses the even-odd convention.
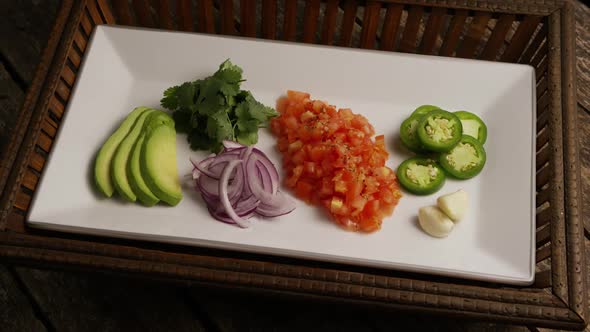
[[[386,312],[333,301],[261,295],[250,291],[195,287],[190,293],[192,301],[211,320],[213,329],[223,332],[243,331],[245,327],[255,327],[256,331],[287,332],[528,331],[524,327],[467,322],[404,311]]]

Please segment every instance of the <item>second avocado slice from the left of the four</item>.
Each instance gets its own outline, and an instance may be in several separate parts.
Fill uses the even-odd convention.
[[[129,178],[127,176],[127,163],[131,155],[131,149],[133,148],[137,138],[141,134],[145,119],[148,115],[152,114],[154,110],[145,110],[135,121],[131,131],[125,136],[125,139],[119,144],[115,156],[113,157],[111,176],[113,177],[113,184],[115,189],[125,200],[129,202],[135,202],[137,196],[134,190],[131,188]]]

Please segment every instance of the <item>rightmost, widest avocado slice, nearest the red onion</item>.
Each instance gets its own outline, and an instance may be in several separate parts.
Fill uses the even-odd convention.
[[[151,192],[175,206],[182,200],[176,165],[174,120],[163,112],[150,116],[140,153],[141,174]]]

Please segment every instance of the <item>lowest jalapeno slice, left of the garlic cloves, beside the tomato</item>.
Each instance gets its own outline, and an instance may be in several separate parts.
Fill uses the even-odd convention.
[[[437,192],[445,183],[445,172],[436,160],[412,157],[397,168],[399,183],[407,191],[416,195],[429,195]]]

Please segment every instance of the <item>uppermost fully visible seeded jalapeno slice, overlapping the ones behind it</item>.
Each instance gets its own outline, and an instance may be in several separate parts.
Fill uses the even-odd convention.
[[[425,148],[435,152],[446,152],[461,139],[463,126],[455,114],[434,110],[420,119],[417,132]]]

